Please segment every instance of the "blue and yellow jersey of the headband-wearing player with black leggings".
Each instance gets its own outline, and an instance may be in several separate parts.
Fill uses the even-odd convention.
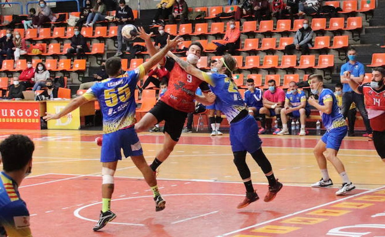
[[[209,83],[211,91],[216,95],[215,105],[226,115],[229,123],[246,109],[241,94],[233,80],[224,74],[203,73],[204,80]]]

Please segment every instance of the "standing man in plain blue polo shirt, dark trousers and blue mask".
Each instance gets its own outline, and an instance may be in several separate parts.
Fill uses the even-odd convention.
[[[368,136],[369,140],[372,139],[372,128],[368,119],[368,113],[363,103],[363,95],[357,94],[350,88],[347,79],[355,81],[357,84],[361,84],[365,76],[365,70],[362,63],[357,61],[357,52],[354,48],[348,49],[349,61],[341,66],[340,78],[343,85],[342,88],[342,106],[341,113],[346,118],[350,105],[354,102],[360,111],[363,122],[365,124],[366,133],[363,136]]]

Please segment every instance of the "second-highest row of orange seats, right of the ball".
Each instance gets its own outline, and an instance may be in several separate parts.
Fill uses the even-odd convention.
[[[284,32],[295,32],[298,29],[302,28],[304,19],[296,19],[293,22],[293,28],[291,28],[291,20],[278,20],[276,23],[276,28],[274,29],[273,20],[263,20],[259,22],[259,28],[257,30],[257,21],[248,21],[243,23],[241,33],[284,33]],[[239,27],[239,22],[236,22],[236,26]],[[227,26],[228,27],[228,26]],[[348,17],[346,20],[345,27],[345,18],[335,17],[330,18],[329,27],[326,27],[326,18],[313,18],[311,20],[311,28],[313,31],[327,30],[359,30],[362,28],[362,17]],[[218,35],[224,34],[224,22],[213,22],[210,25],[208,23],[196,23],[195,29],[192,30],[192,23],[181,24],[179,25],[179,30],[177,30],[177,25],[166,25],[164,31],[170,35]]]

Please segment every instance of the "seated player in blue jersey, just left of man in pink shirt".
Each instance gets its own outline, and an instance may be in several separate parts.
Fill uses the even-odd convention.
[[[248,107],[249,114],[253,117],[259,114],[259,109],[263,107],[262,90],[254,85],[254,79],[249,78],[246,82],[248,90],[244,93],[244,103]]]

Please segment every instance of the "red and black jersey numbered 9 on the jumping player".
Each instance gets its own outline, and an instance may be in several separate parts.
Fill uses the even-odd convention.
[[[195,76],[189,75],[172,58],[166,59],[165,68],[170,72],[166,93],[161,101],[182,112],[194,112],[195,91],[198,86],[203,92],[208,92],[209,86]]]

